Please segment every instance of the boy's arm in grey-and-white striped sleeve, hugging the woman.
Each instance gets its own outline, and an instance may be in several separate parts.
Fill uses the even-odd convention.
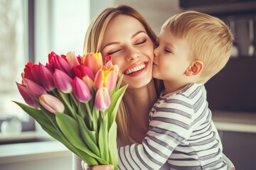
[[[149,132],[142,144],[118,148],[119,169],[160,169],[174,148],[191,135],[191,114],[176,103],[161,103],[152,110]],[[189,110],[189,109],[188,109]],[[192,111],[192,109],[191,109]]]

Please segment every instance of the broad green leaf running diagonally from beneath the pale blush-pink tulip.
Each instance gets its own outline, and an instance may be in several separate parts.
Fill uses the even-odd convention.
[[[98,157],[95,153],[93,153],[90,150],[90,148],[87,145],[85,145],[85,142],[83,142],[82,137],[80,135],[80,127],[73,118],[70,118],[70,116],[65,115],[64,113],[58,113],[56,114],[56,121],[58,123],[60,130],[63,132],[63,135],[67,137],[68,141],[74,147],[87,153],[89,157],[94,157],[95,159],[97,159],[98,162],[100,162],[100,164],[107,164],[107,162],[104,159]],[[92,164],[97,163],[92,162]]]

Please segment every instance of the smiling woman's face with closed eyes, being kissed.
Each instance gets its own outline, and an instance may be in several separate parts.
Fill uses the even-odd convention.
[[[102,56],[112,56],[112,63],[124,74],[122,84],[137,89],[152,79],[154,44],[142,23],[131,16],[119,15],[110,21],[103,38]]]

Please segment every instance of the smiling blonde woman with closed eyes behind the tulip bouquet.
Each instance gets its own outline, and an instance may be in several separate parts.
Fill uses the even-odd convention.
[[[161,91],[151,74],[155,39],[144,17],[124,5],[102,11],[87,30],[84,53],[102,52],[103,59],[111,55],[124,74],[122,83],[129,84],[117,113],[119,146],[142,142],[148,131],[149,111]],[[81,169],[80,159],[73,169]]]

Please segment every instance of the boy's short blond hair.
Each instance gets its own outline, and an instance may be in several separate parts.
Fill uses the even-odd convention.
[[[233,35],[219,18],[186,11],[169,18],[163,28],[169,29],[176,38],[188,40],[191,60],[203,62],[202,83],[220,72],[230,58]]]

